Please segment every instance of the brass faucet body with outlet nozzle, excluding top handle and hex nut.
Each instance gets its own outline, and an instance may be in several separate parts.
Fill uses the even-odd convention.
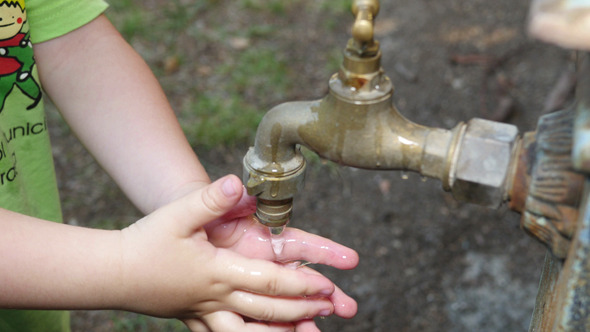
[[[264,116],[244,158],[246,188],[258,197],[256,216],[263,224],[277,228],[290,219],[293,196],[303,185],[300,146],[341,165],[414,171],[449,187],[464,124],[446,130],[403,117],[393,106],[393,85],[380,58],[378,51],[345,51],[324,98],[284,103]]]

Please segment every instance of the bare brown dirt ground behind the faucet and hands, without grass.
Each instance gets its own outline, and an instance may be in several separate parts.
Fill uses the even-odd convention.
[[[444,128],[482,117],[533,130],[547,96],[571,69],[571,54],[527,36],[528,5],[524,0],[382,1],[376,35],[402,114]],[[314,29],[320,19],[294,12],[285,25],[291,33],[273,41],[302,73],[289,97],[315,99],[327,91],[318,45],[344,47],[352,19],[338,18],[342,29],[330,36]],[[175,95],[171,98],[174,104]],[[116,226],[134,220],[136,212],[116,188],[87,188],[73,180],[75,175],[106,183],[108,177],[80,157],[81,148],[66,134],[54,133],[66,220],[101,220],[106,212],[122,220]],[[219,177],[241,174],[245,151],[245,146],[220,148],[200,156]],[[316,164],[295,200],[291,225],[360,255],[352,271],[318,267],[359,304],[353,319],[318,320],[323,331],[528,328],[545,251],[520,230],[519,215],[506,208],[457,203],[439,182],[415,174]],[[74,329],[106,330],[100,317],[75,313]]]

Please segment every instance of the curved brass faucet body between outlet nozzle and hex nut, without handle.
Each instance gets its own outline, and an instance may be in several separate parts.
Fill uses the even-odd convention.
[[[265,173],[298,169],[305,146],[321,157],[364,169],[407,170],[446,180],[453,130],[411,122],[392,104],[393,88],[384,77],[379,93],[362,100],[351,96],[338,75],[321,100],[288,102],[271,109],[258,127],[245,162]],[[343,93],[344,92],[344,93]],[[347,93],[348,95],[345,95]]]

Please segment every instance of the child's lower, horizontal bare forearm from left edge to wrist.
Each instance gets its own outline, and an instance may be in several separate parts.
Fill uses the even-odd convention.
[[[120,247],[120,231],[0,209],[0,308],[120,307]]]

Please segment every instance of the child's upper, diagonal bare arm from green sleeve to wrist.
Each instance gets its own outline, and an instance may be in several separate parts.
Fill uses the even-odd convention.
[[[143,212],[210,182],[156,78],[106,17],[34,49],[52,101]]]

